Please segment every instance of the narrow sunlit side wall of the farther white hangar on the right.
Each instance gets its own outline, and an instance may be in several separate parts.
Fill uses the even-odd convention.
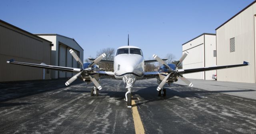
[[[216,50],[216,35],[204,35],[205,42],[205,67],[216,66],[216,57],[213,56],[213,50]],[[205,79],[212,80],[212,75],[216,70],[205,71]]]

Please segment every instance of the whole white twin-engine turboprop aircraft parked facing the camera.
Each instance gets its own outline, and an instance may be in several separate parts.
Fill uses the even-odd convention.
[[[188,51],[185,51],[185,53],[182,55],[178,63],[174,65],[174,64],[167,64],[165,62],[165,60],[167,59],[161,59],[157,55],[153,55],[155,60],[148,60],[148,61],[144,60],[141,49],[138,47],[129,46],[129,45],[122,46],[117,49],[116,55],[114,57],[114,61],[102,60],[106,56],[106,54],[103,53],[96,59],[90,58],[92,63],[83,64],[80,58],[76,55],[76,53],[74,53],[72,49],[70,49],[70,53],[74,57],[74,59],[76,59],[76,61],[81,65],[81,68],[59,67],[59,66],[46,65],[44,63],[41,63],[41,64],[22,63],[22,62],[15,62],[13,59],[7,61],[7,63],[77,73],[72,78],[70,78],[65,83],[65,85],[67,86],[70,85],[70,83],[75,81],[78,77],[85,82],[92,82],[94,83],[94,89],[91,90],[92,96],[98,95],[99,94],[98,90],[102,89],[102,87],[98,83],[100,79],[111,78],[111,79],[122,80],[124,84],[126,84],[127,92],[125,94],[125,97],[127,101],[127,106],[129,108],[132,107],[131,89],[136,80],[157,78],[157,82],[159,84],[159,86],[157,87],[158,96],[161,96],[161,95],[166,96],[166,89],[163,88],[164,84],[165,83],[170,84],[175,81],[178,81],[178,78],[184,81],[190,87],[193,86],[193,84],[190,81],[188,81],[188,79],[182,76],[183,74],[249,65],[248,62],[244,61],[243,64],[238,64],[238,65],[202,67],[202,68],[195,68],[195,69],[177,69],[177,66],[180,65],[180,63],[182,63],[182,61],[188,55]],[[114,72],[99,71],[98,67],[96,67],[96,64],[99,61],[113,63]],[[150,63],[150,62],[156,62],[156,61],[163,64],[160,67],[160,69],[158,69],[158,71],[153,71],[153,72],[144,71],[144,63]]]

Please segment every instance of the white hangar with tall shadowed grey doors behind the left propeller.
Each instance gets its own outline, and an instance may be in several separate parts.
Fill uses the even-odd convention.
[[[69,50],[73,49],[74,52],[84,61],[84,49],[76,42],[75,39],[66,37],[59,34],[36,34],[39,37],[47,39],[53,43],[51,65],[62,66],[62,67],[74,67],[80,68],[80,65],[72,57]],[[72,77],[73,73],[54,71],[51,70],[51,78],[66,78]]]

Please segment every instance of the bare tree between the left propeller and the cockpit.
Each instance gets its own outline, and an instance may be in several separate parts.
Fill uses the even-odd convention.
[[[114,60],[114,55],[115,55],[115,49],[114,48],[103,48],[100,49],[100,51],[97,51],[97,57],[102,55],[102,53],[106,54],[106,57],[103,58],[103,60]],[[98,63],[100,68],[103,68],[106,71],[114,71],[114,65],[111,63],[104,63],[104,62],[99,62]]]

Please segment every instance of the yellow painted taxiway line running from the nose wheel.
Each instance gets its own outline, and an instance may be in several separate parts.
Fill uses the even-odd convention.
[[[137,105],[134,100],[132,100],[132,117],[134,121],[134,128],[136,134],[145,134],[144,126],[140,119],[140,114],[138,112]]]

